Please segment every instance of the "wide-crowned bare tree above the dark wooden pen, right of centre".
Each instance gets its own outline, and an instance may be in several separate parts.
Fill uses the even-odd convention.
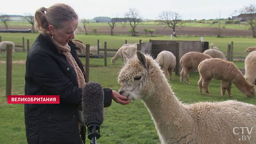
[[[173,29],[173,36],[176,36],[175,29],[182,26],[181,16],[177,12],[164,11],[159,15],[161,23]]]

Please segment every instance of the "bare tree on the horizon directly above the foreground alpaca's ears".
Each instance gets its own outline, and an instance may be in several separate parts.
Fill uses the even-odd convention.
[[[132,27],[132,36],[136,36],[136,26],[139,22],[141,22],[141,16],[137,9],[130,8],[128,12],[124,14],[125,17],[127,17],[128,21],[130,22],[130,25]]]

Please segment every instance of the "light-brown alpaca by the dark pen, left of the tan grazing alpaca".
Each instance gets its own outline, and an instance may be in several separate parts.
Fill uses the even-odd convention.
[[[199,63],[205,59],[210,59],[212,58],[211,56],[209,56],[208,54],[204,54],[201,52],[188,52],[185,53],[181,58],[180,58],[180,65],[182,67],[181,71],[180,71],[180,82],[183,82],[183,76],[185,76],[186,81],[188,84],[188,75],[189,72],[192,68],[196,68],[198,67]]]

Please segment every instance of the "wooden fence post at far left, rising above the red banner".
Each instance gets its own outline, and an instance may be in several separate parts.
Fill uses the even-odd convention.
[[[6,98],[12,95],[12,45],[7,44],[6,54]]]

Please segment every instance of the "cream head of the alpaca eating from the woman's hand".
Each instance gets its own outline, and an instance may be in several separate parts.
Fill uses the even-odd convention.
[[[164,78],[159,65],[149,55],[140,51],[132,57],[124,52],[126,63],[118,76],[121,84],[119,93],[126,96],[127,100],[142,99],[154,93],[156,80]]]

